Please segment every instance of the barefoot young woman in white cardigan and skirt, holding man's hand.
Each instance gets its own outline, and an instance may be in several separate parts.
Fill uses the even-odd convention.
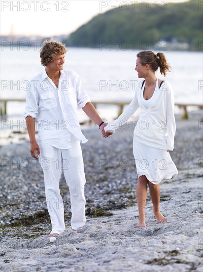
[[[136,67],[138,78],[144,78],[135,91],[135,96],[120,117],[105,128],[103,136],[115,132],[124,120],[129,118],[140,108],[139,119],[134,130],[133,152],[138,175],[136,198],[139,222],[136,227],[146,227],[145,206],[147,198],[147,184],[153,203],[153,212],[159,223],[167,219],[159,209],[160,186],[163,179],[171,179],[178,174],[169,151],[173,150],[175,135],[174,98],[169,82],[161,81],[155,72],[160,68],[161,74],[166,76],[170,72],[163,53],[141,51],[137,54]]]

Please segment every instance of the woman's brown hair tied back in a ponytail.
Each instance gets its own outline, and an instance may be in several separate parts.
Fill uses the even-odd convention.
[[[167,72],[170,71],[170,65],[167,63],[167,59],[163,53],[155,54],[152,51],[140,51],[136,55],[140,59],[141,65],[149,64],[153,71],[157,71],[160,67],[160,72],[166,77]]]

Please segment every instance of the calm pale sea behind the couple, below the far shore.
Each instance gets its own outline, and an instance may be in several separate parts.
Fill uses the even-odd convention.
[[[11,50],[12,49],[12,50]],[[26,81],[38,74],[43,67],[39,58],[40,48],[1,48],[1,98],[25,98]],[[135,85],[140,81],[135,71],[135,50],[100,50],[99,48],[68,48],[65,69],[74,70],[81,78],[92,101],[122,101],[134,96]],[[172,67],[166,77],[174,89],[176,103],[201,103],[203,101],[202,52],[162,51]],[[159,78],[164,79],[157,73]],[[10,102],[8,120],[23,120],[25,104]],[[117,108],[100,106],[103,118],[116,117]],[[176,112],[178,109],[175,109]],[[108,114],[108,116],[106,116]],[[79,118],[85,119],[82,111]],[[4,127],[6,129],[6,126]]]

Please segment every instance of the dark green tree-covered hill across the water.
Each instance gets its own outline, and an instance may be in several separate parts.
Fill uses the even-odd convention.
[[[145,49],[144,44],[155,46],[160,41],[169,43],[175,40],[187,43],[189,49],[202,50],[201,1],[155,3],[142,1],[99,14],[73,32],[68,45],[99,47],[117,43],[120,47]]]

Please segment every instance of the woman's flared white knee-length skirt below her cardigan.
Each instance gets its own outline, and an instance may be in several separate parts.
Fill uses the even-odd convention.
[[[134,140],[133,153],[138,178],[145,176],[148,181],[158,184],[163,179],[171,179],[173,175],[178,174],[167,150],[151,147]]]

